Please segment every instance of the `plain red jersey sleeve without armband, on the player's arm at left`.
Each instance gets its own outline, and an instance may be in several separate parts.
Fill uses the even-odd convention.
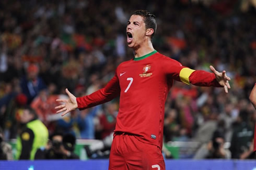
[[[104,88],[101,88],[88,96],[77,97],[76,101],[78,109],[83,110],[108,102],[119,95],[120,85],[117,72],[115,72],[114,77]]]

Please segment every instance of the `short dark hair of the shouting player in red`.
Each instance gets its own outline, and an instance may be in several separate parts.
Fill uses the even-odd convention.
[[[146,25],[146,29],[153,29],[154,33],[151,35],[151,38],[155,35],[157,29],[156,16],[147,10],[136,10],[132,15],[142,16]]]

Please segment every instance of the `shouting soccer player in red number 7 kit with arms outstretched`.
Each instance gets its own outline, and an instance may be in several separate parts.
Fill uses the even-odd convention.
[[[109,169],[165,169],[161,154],[164,108],[173,81],[197,86],[230,88],[226,72],[196,71],[161,55],[153,45],[155,16],[145,10],[135,11],[127,22],[127,44],[134,58],[122,62],[106,87],[88,96],[69,99],[56,109],[62,115],[78,108],[87,109],[120,96],[120,108],[114,130]]]

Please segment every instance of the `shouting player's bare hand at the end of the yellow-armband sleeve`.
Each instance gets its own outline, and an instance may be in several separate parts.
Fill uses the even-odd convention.
[[[213,66],[210,66],[210,69],[215,74],[216,80],[218,83],[224,87],[226,93],[228,93],[228,89],[230,89],[230,85],[228,81],[230,81],[230,77],[227,76],[226,71],[222,71],[222,73],[216,71]]]

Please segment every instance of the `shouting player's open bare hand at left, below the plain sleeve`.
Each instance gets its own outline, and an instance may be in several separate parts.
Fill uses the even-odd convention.
[[[68,112],[71,112],[72,110],[75,110],[77,106],[76,97],[68,91],[66,88],[66,93],[68,95],[68,99],[57,99],[56,101],[63,102],[64,104],[61,104],[59,106],[56,106],[55,109],[59,109],[56,111],[56,113],[63,112],[61,116],[64,116]]]

